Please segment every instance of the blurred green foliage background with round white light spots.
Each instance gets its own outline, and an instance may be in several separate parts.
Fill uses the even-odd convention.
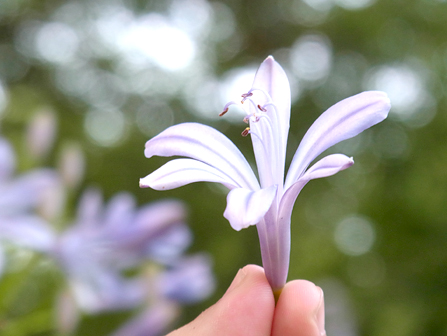
[[[64,146],[80,144],[78,193],[95,185],[106,199],[127,190],[140,204],[187,202],[190,251],[211,254],[218,284],[183,310],[181,324],[215,302],[239,268],[261,263],[258,238],[254,227],[231,229],[217,185],[140,189],[138,179],[166,162],[146,159],[145,141],[202,122],[253,161],[242,117],[218,113],[268,55],[292,86],[288,162],[326,108],[383,90],[389,118],[331,149],[356,164],[312,181],[297,200],[289,280],[323,288],[330,336],[447,335],[446,17],[444,0],[0,0],[1,134],[22,171],[56,167]],[[39,111],[58,126],[50,154],[36,162],[24,137]],[[0,280],[0,334],[8,325],[8,335],[52,335],[58,275],[31,272],[26,260]],[[86,317],[77,334],[101,335],[116,321]]]

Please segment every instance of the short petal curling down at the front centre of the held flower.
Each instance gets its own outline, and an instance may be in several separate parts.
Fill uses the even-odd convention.
[[[276,185],[258,191],[233,189],[227,196],[224,217],[236,231],[256,225],[270,209],[276,191]]]

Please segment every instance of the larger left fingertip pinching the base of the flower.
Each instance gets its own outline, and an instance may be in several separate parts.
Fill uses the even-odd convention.
[[[248,265],[216,304],[169,336],[270,336],[274,310],[264,270]]]

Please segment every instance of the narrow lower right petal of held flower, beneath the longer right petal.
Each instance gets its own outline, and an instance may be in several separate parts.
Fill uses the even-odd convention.
[[[290,218],[293,204],[307,182],[334,175],[341,170],[351,167],[353,164],[354,160],[343,154],[331,154],[315,163],[297,182],[286,190],[279,205],[279,217]]]

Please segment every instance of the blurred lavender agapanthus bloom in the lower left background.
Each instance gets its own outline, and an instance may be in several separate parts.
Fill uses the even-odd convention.
[[[160,304],[172,307],[168,315],[173,318],[179,304],[202,300],[214,287],[207,256],[184,255],[192,238],[185,217],[183,203],[176,200],[137,207],[133,196],[119,193],[103,204],[100,193],[90,189],[80,200],[76,220],[63,232],[35,217],[0,221],[0,239],[55,261],[71,290],[62,302],[62,314],[76,314],[76,309],[67,308],[73,304],[87,313],[147,306],[147,311],[168,314],[157,307]],[[142,272],[126,276],[131,269]],[[60,316],[60,320],[76,318]],[[137,335],[144,334],[148,323],[130,325]],[[138,326],[143,328],[140,333]]]

